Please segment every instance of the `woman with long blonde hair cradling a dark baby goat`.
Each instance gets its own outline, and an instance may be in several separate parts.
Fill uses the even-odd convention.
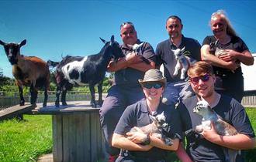
[[[206,36],[203,40],[201,58],[213,66],[217,92],[232,96],[241,102],[244,77],[240,63],[251,66],[254,64],[254,57],[235,32],[223,10],[213,13],[210,26],[213,35]]]

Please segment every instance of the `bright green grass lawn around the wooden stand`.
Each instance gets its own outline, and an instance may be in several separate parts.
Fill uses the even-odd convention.
[[[247,114],[256,132],[256,108],[247,108]],[[0,122],[0,161],[36,161],[42,154],[52,152],[50,115],[24,115],[24,120]],[[256,159],[256,147],[247,150],[246,161]],[[170,154],[170,161],[179,161]]]

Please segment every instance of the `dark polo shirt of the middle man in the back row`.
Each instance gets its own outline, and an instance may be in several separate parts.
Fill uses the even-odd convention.
[[[179,49],[185,47],[185,56],[189,58],[195,59],[197,61],[201,60],[200,55],[200,44],[197,40],[184,37],[182,35],[182,43],[178,46]],[[177,76],[174,76],[173,73],[175,72],[175,65],[177,60],[175,59],[174,52],[171,49],[177,49],[177,47],[171,42],[170,39],[167,39],[163,42],[160,42],[157,45],[156,55],[157,55],[157,62],[156,66],[161,66],[164,64],[164,76],[166,77],[168,82],[175,83],[181,81],[181,73],[179,72]],[[187,74],[185,74],[185,78]]]

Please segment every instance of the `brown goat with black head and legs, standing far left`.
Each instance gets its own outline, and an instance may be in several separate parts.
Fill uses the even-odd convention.
[[[26,44],[26,39],[20,43],[6,43],[0,40],[0,45],[4,46],[5,54],[12,64],[12,74],[16,79],[16,85],[19,86],[19,105],[23,106],[22,86],[29,86],[30,103],[36,106],[37,89],[44,87],[43,106],[47,106],[47,90],[50,84],[50,70],[47,62],[36,56],[22,56],[20,48]]]

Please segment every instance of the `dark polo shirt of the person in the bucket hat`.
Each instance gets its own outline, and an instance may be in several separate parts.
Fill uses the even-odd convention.
[[[171,136],[172,133],[178,133],[178,135],[182,134],[181,121],[178,116],[178,111],[175,110],[174,106],[167,106],[163,103],[157,108],[157,112],[153,114],[153,116],[157,116],[157,114],[161,114],[164,112],[164,116],[166,118],[166,123],[171,127],[170,132],[168,134]],[[116,130],[114,133],[118,133],[121,135],[126,135],[127,132],[130,131],[133,127],[143,127],[146,126],[152,121],[150,121],[149,111],[147,108],[146,100],[140,100],[133,105],[127,106],[126,110],[123,112],[119,123],[116,125]],[[154,158],[163,159],[167,156],[168,150],[162,150],[157,147],[153,147],[149,151],[130,151],[134,157],[146,157],[146,158]]]

